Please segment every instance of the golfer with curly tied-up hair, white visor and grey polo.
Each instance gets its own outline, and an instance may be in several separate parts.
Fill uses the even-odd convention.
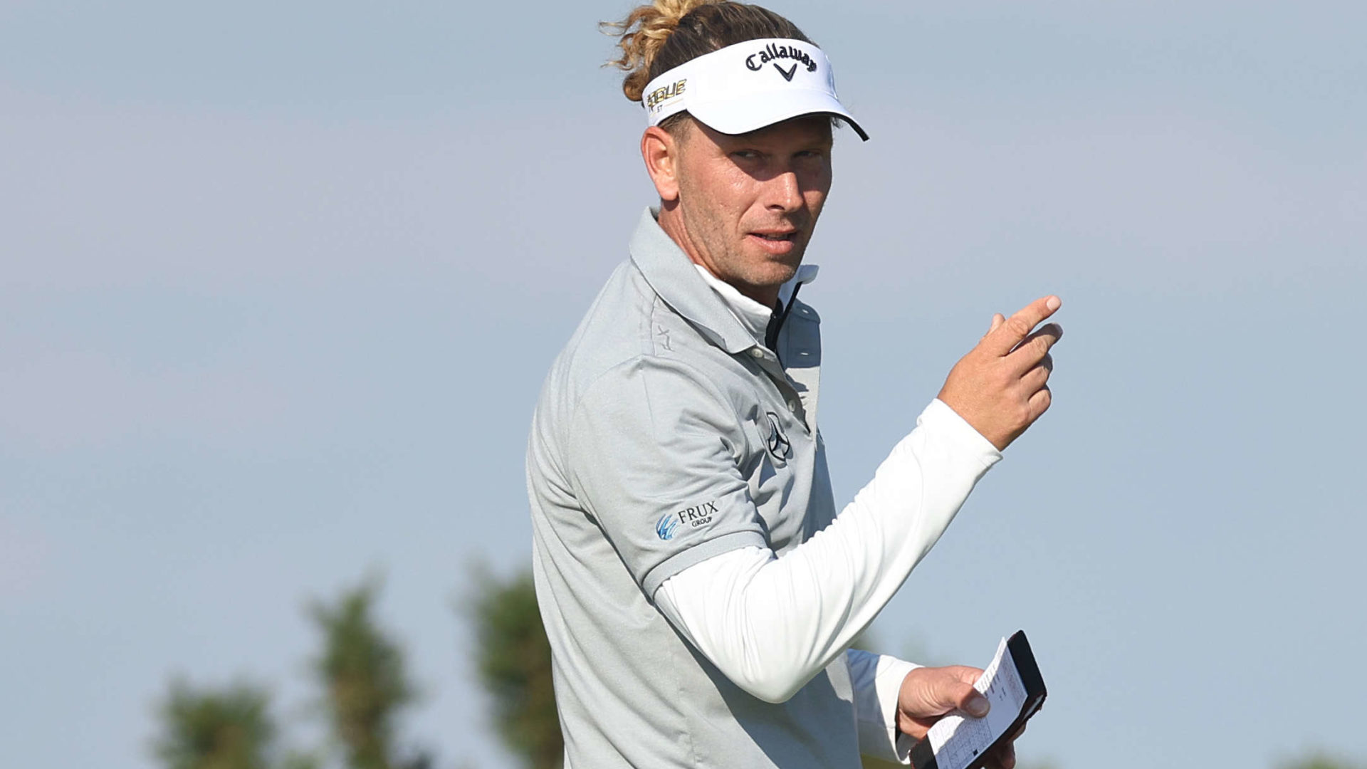
[[[820,319],[798,293],[833,129],[868,137],[826,53],[772,11],[656,0],[614,27],[659,205],[555,360],[528,445],[566,766],[905,764],[946,713],[986,713],[980,670],[848,646],[1048,408],[1059,300],[992,317],[837,510]],[[1006,746],[988,766],[1014,762]]]

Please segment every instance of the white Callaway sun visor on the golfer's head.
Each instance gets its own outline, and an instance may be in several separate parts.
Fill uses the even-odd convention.
[[[652,126],[688,109],[723,134],[744,134],[798,115],[835,115],[868,134],[835,96],[835,74],[822,49],[801,40],[746,40],[704,53],[645,86]]]

